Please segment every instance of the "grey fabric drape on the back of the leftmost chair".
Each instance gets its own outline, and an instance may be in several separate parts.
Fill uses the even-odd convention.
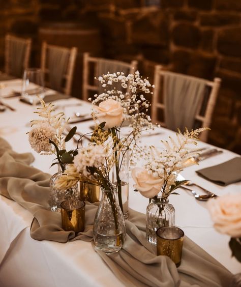
[[[10,39],[10,74],[18,78],[22,77],[23,62],[26,51],[26,42],[21,39]]]

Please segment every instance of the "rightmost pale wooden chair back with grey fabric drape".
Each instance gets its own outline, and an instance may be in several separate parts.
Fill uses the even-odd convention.
[[[152,121],[181,131],[210,127],[221,79],[214,81],[173,73],[155,67]],[[200,134],[207,140],[208,131]]]

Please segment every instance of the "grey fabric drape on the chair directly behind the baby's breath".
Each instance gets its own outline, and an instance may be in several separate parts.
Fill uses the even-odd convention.
[[[128,65],[115,60],[99,59],[97,67],[97,77],[105,75],[108,72],[111,74],[116,72],[123,72],[127,76],[130,72],[130,67]],[[120,82],[113,82],[111,87],[111,89],[115,88],[118,91],[125,91]],[[106,88],[102,87],[102,83],[99,82],[99,94],[104,93],[105,89]]]

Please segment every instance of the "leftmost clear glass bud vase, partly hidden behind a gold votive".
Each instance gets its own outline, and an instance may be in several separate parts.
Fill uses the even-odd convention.
[[[50,210],[55,212],[61,212],[61,203],[66,199],[79,199],[79,189],[76,184],[73,187],[67,189],[57,189],[55,187],[55,182],[59,177],[63,174],[62,169],[58,166],[58,172],[51,176],[49,181],[49,189],[50,189],[50,197],[49,197],[49,205]]]

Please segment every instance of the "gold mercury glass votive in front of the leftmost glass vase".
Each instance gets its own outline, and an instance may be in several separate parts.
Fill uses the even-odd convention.
[[[85,203],[83,200],[67,199],[61,203],[62,227],[75,233],[84,231]]]

